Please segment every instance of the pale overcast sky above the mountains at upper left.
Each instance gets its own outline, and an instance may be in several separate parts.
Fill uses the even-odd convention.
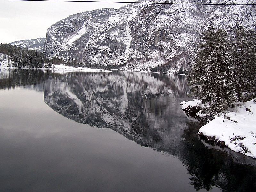
[[[48,27],[69,15],[98,8],[117,9],[124,5],[126,4],[0,0],[0,43],[46,37]]]

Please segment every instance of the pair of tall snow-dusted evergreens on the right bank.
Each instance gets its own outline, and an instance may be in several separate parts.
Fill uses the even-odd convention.
[[[204,112],[216,114],[234,107],[236,100],[256,96],[256,32],[238,26],[228,35],[210,26],[199,38],[188,83],[206,104]]]

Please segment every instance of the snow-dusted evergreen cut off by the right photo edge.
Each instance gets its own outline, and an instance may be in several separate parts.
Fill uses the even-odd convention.
[[[239,26],[232,38],[234,87],[238,101],[243,93],[256,94],[256,33]]]

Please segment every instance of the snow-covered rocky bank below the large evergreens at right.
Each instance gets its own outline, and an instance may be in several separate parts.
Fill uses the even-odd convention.
[[[200,114],[200,108],[204,107],[200,100],[184,101],[180,105],[191,116],[204,116]],[[256,98],[238,103],[236,108],[213,117],[212,121],[199,129],[199,136],[208,142],[256,158]]]

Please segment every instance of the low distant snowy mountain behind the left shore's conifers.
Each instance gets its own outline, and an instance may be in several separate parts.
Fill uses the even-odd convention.
[[[26,47],[28,49],[35,49],[37,51],[43,52],[44,51],[44,42],[45,42],[45,38],[40,37],[37,39],[14,41],[9,44],[16,45],[19,47]]]

